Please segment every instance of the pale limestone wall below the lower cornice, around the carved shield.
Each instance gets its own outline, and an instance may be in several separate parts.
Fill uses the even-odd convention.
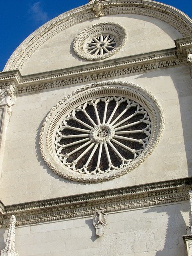
[[[98,238],[92,218],[16,228],[19,256],[186,256],[188,202],[107,215]],[[7,230],[0,229],[0,249]],[[4,238],[3,238],[4,236]]]

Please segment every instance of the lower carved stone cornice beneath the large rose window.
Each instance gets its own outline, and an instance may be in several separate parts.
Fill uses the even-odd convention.
[[[191,189],[192,178],[183,178],[9,206],[0,202],[0,228],[9,226],[12,214],[16,216],[16,226],[92,218],[96,210],[109,214],[187,201]]]

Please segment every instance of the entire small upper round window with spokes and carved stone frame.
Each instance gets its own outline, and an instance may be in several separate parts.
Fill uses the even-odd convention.
[[[74,52],[84,60],[102,60],[123,48],[126,30],[118,23],[97,23],[84,29],[74,40]]]

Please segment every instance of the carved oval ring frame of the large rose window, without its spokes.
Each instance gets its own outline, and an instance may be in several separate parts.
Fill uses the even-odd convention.
[[[67,116],[74,108],[88,100],[104,96],[122,96],[130,100],[136,100],[141,104],[150,116],[152,124],[150,140],[146,148],[131,162],[131,164],[119,168],[118,170],[106,174],[81,174],[79,172],[74,172],[65,166],[56,154],[54,145],[56,131],[65,116]],[[156,100],[148,90],[139,85],[127,82],[98,82],[77,89],[60,100],[58,104],[50,110],[40,131],[40,152],[48,167],[63,178],[75,182],[103,182],[118,178],[130,172],[146,160],[160,141],[164,130],[164,124],[164,111],[158,100]]]

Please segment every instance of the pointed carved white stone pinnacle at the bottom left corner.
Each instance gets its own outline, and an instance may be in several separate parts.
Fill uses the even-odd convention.
[[[6,245],[1,251],[0,256],[18,256],[18,252],[15,251],[15,223],[16,218],[12,215],[10,218],[10,227],[7,234]]]

